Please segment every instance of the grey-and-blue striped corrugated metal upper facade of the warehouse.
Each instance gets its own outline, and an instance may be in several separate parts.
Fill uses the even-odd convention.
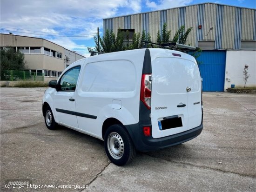
[[[214,40],[215,49],[241,49],[241,40],[256,40],[256,10],[232,7],[215,3],[179,7],[149,13],[140,13],[103,20],[106,29],[135,29],[135,33],[145,30],[156,42],[156,34],[164,23],[171,30],[171,38],[184,25],[193,27],[186,44],[198,46],[198,41]],[[198,26],[202,26],[199,29]],[[213,27],[212,30],[210,28]]]

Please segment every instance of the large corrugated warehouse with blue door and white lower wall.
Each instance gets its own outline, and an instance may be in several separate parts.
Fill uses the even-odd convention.
[[[157,32],[167,23],[170,40],[177,29],[193,27],[186,44],[202,49],[198,58],[204,91],[226,91],[232,84],[243,86],[243,67],[249,66],[247,86],[256,86],[256,9],[216,3],[177,7],[103,20],[104,33],[118,28],[132,33]]]

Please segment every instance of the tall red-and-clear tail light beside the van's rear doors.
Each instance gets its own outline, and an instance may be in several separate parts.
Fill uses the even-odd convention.
[[[142,74],[141,78],[141,101],[145,106],[151,108],[151,74]]]

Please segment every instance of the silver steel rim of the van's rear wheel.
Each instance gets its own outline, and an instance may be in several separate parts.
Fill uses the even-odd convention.
[[[124,153],[123,139],[117,132],[108,135],[108,152],[114,159],[121,159]]]

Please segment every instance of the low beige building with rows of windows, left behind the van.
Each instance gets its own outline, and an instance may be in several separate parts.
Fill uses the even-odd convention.
[[[42,76],[43,73],[45,81],[58,78],[67,66],[84,58],[45,39],[1,33],[0,48],[4,47],[13,47],[24,53],[30,72],[34,72],[36,76]]]

